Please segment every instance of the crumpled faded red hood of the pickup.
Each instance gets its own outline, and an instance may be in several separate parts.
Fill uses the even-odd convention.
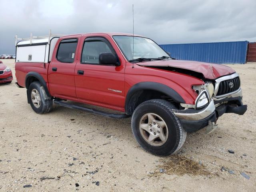
[[[139,62],[136,63],[140,66],[170,66],[174,68],[181,68],[192,70],[195,72],[202,73],[206,79],[216,79],[220,76],[232,74],[235,71],[221,64],[204,63],[198,61],[185,61],[185,60],[158,60],[150,62]]]

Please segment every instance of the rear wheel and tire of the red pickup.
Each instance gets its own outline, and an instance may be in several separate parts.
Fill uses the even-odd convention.
[[[36,94],[36,96],[32,96],[33,94]],[[38,81],[30,84],[28,88],[28,100],[34,112],[38,114],[48,113],[52,110],[52,97],[46,94],[44,87]]]

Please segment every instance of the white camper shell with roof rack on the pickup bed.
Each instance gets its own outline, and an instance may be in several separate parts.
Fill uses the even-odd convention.
[[[18,38],[15,36],[16,62],[49,63],[52,60],[54,47],[63,35],[32,36]],[[22,40],[17,43],[18,40]]]

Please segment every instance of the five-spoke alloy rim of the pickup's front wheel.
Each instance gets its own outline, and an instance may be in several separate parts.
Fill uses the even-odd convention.
[[[159,115],[147,113],[140,119],[140,134],[150,145],[161,146],[168,139],[168,128]]]

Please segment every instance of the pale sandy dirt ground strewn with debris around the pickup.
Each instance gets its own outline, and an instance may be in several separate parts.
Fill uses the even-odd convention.
[[[14,60],[2,61],[15,76]],[[224,114],[212,134],[204,129],[188,134],[180,152],[201,161],[211,176],[150,177],[162,158],[140,148],[130,118],[56,105],[48,114],[36,114],[14,77],[0,85],[0,191],[256,191],[256,63],[228,66],[242,79],[246,114]],[[222,172],[222,166],[234,174]]]

